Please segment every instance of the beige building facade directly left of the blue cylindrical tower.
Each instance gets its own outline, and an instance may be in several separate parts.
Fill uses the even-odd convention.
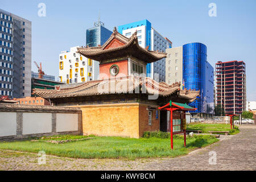
[[[183,82],[183,47],[166,49],[166,82],[173,84]]]

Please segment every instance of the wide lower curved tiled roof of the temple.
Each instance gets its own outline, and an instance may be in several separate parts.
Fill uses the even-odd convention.
[[[58,90],[57,90],[58,89]],[[84,97],[99,96],[108,94],[122,93],[146,93],[159,94],[168,97],[177,94],[178,97],[192,102],[199,96],[200,91],[180,90],[180,83],[168,85],[165,82],[156,82],[149,77],[127,76],[124,78],[112,78],[106,80],[88,81],[79,86],[55,90],[34,89],[33,94],[43,98],[65,98],[65,97]]]

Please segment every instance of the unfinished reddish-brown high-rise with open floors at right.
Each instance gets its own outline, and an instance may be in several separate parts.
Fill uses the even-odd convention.
[[[225,114],[242,114],[246,110],[246,74],[243,61],[216,63],[216,104]]]

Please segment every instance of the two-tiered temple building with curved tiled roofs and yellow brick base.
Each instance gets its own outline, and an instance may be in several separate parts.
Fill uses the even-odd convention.
[[[113,34],[102,46],[77,48],[81,55],[100,62],[100,77],[81,84],[34,89],[34,94],[55,106],[79,106],[84,135],[142,137],[144,131],[168,131],[167,112],[158,108],[170,101],[188,104],[199,91],[180,90],[146,77],[146,64],[166,53],[138,44],[137,32],[130,38]]]

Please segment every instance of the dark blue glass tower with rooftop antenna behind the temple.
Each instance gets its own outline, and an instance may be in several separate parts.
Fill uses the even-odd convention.
[[[94,23],[94,27],[86,30],[86,46],[97,47],[103,45],[109,39],[112,31],[104,27],[104,23],[98,20]]]

